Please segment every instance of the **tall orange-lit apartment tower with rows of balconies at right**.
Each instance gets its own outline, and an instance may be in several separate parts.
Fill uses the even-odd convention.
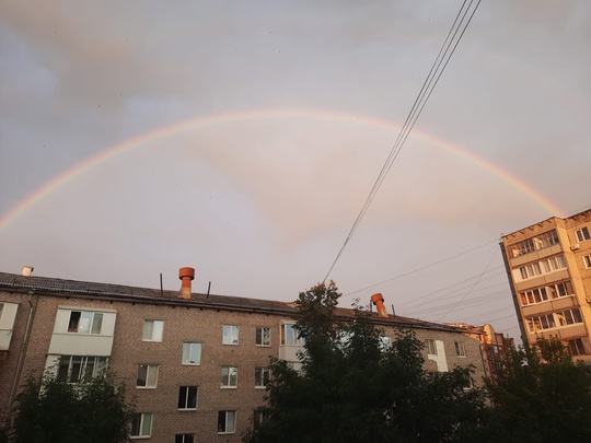
[[[591,365],[591,209],[503,235],[522,337],[557,337]]]

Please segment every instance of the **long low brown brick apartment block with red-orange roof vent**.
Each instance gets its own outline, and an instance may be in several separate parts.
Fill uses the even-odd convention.
[[[137,398],[131,435],[147,442],[239,442],[260,417],[269,357],[297,364],[292,303],[0,272],[0,413],[27,374],[76,382],[106,365]],[[338,308],[339,320],[350,310]],[[384,342],[413,328],[426,370],[472,364],[485,375],[478,335],[373,314]]]

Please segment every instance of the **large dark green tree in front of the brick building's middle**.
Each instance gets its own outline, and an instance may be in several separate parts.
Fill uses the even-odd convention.
[[[390,347],[371,315],[354,310],[338,324],[334,282],[300,293],[297,301],[302,371],[271,359],[266,418],[244,441],[448,442],[471,441],[485,409],[470,369],[429,374],[422,343],[401,330]]]

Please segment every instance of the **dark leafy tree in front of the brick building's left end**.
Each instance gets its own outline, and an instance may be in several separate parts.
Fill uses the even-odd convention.
[[[119,443],[129,441],[134,404],[111,374],[80,383],[40,383],[30,376],[16,397],[5,429],[10,443]]]

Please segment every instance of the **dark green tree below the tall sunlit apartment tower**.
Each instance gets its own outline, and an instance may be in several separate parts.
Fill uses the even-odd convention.
[[[591,375],[560,340],[525,342],[496,363],[490,441],[591,441]]]

